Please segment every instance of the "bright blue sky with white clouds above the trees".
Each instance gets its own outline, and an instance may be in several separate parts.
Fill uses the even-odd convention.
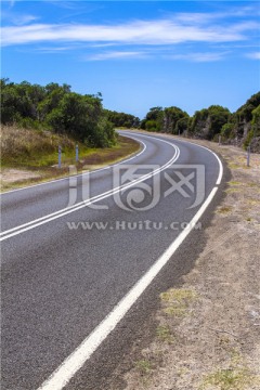
[[[2,1],[1,77],[101,92],[106,108],[232,112],[259,91],[258,1]]]

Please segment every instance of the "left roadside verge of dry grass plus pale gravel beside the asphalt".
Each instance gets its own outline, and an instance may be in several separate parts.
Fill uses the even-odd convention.
[[[17,188],[69,174],[69,166],[81,171],[115,162],[140,150],[140,144],[118,136],[113,147],[79,146],[79,161],[75,164],[76,142],[49,131],[2,127],[1,129],[1,191]],[[57,148],[62,146],[62,168],[57,167]],[[20,174],[21,172],[21,174]],[[25,174],[27,172],[27,174]],[[15,173],[15,174],[14,174]]]

